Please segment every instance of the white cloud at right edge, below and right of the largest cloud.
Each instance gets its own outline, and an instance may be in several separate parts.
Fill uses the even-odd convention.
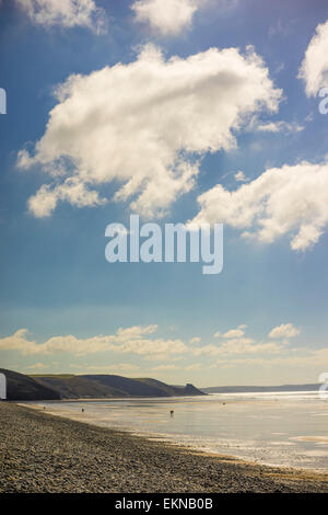
[[[293,250],[306,250],[328,222],[328,163],[269,169],[236,191],[218,184],[198,202],[194,224],[225,222],[263,243],[290,234]]]

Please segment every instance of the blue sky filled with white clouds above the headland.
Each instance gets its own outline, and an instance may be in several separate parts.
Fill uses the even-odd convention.
[[[0,366],[317,382],[327,1],[2,0],[0,42]],[[222,272],[108,263],[132,214],[222,222]]]

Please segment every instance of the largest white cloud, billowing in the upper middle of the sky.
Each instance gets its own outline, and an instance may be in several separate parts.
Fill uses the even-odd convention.
[[[131,199],[144,216],[162,214],[192,187],[197,160],[234,147],[245,118],[277,111],[280,98],[251,48],[165,60],[147,46],[128,65],[71,76],[57,89],[35,152],[19,154],[20,168],[39,165],[51,179],[30,210],[48,216],[59,201],[83,205],[83,195],[84,205],[96,205],[104,199],[95,188],[115,181],[116,201]]]

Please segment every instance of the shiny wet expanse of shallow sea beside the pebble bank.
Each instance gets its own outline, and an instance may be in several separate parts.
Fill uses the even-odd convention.
[[[37,408],[206,453],[328,470],[328,400],[318,391],[39,402]]]

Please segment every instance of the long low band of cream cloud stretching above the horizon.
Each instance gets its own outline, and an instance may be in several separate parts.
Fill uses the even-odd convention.
[[[245,325],[239,325],[245,328]],[[199,345],[200,339],[187,346],[179,339],[164,340],[154,337],[157,325],[133,325],[119,328],[114,334],[99,334],[91,337],[77,337],[72,334],[52,336],[43,343],[37,343],[28,337],[26,329],[20,329],[13,334],[0,339],[0,351],[14,351],[25,356],[54,354],[71,354],[86,356],[98,353],[115,353],[139,355],[148,360],[180,359],[185,356],[226,356],[248,354],[276,354],[285,347],[286,341],[282,342],[256,342],[253,337],[245,336],[242,329],[231,329],[220,337],[216,344]],[[292,324],[280,325],[269,334],[274,339],[286,339],[298,334]],[[162,365],[166,366],[167,364]]]

